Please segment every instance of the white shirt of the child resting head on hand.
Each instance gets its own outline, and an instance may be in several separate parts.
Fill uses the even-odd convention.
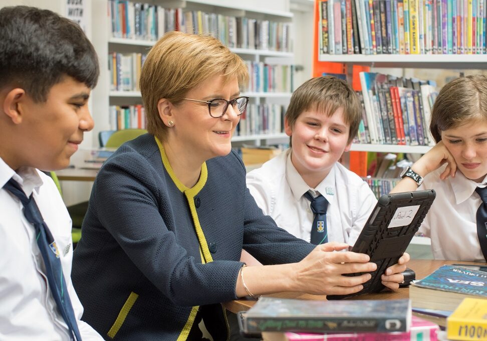
[[[428,174],[418,187],[418,190],[436,191],[436,198],[419,232],[431,238],[435,259],[485,262],[476,224],[477,209],[482,201],[475,188],[485,187],[487,177],[477,184],[457,170],[454,178],[440,180],[445,167]]]

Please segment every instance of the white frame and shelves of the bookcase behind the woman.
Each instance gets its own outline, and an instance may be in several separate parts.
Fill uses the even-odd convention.
[[[144,2],[143,2],[144,3]],[[287,25],[293,21],[293,13],[289,9],[289,1],[274,0],[273,2],[259,2],[251,0],[246,3],[231,3],[223,0],[198,0],[198,1],[183,1],[183,0],[156,0],[147,1],[150,5],[161,6],[166,9],[180,9],[182,16],[190,11],[202,11],[207,14],[216,14],[229,17],[245,17],[255,19],[257,21],[269,21],[277,23],[277,25]],[[93,116],[96,122],[95,131],[93,133],[93,145],[97,145],[98,132],[102,130],[113,129],[113,112],[110,114],[110,106],[132,106],[141,105],[142,98],[139,91],[134,89],[130,91],[115,90],[111,85],[112,73],[109,70],[109,63],[112,61],[110,53],[116,52],[120,54],[146,54],[153,46],[155,41],[144,39],[131,39],[114,37],[112,34],[112,26],[109,17],[109,0],[92,0],[93,9],[93,25],[98,27],[94,31],[92,42],[98,53],[100,65],[100,79],[98,86],[93,91]],[[101,10],[100,10],[101,9]],[[281,24],[283,23],[283,24]],[[182,26],[182,25],[181,25]],[[271,26],[270,26],[271,27]],[[181,29],[184,31],[185,29]],[[294,28],[291,28],[294,30]],[[276,64],[289,67],[289,83],[291,84],[286,91],[281,89],[268,89],[267,91],[242,91],[242,95],[251,97],[249,106],[254,104],[257,111],[255,115],[259,115],[260,106],[273,106],[269,112],[276,112],[276,106],[282,105],[284,108],[289,103],[292,94],[292,77],[294,70],[291,65],[294,64],[294,53],[292,51],[292,41],[290,41],[289,49],[280,49],[284,51],[274,51],[271,44],[269,49],[252,49],[242,47],[230,47],[230,50],[241,56],[244,61],[254,63],[254,65],[262,66],[264,64]],[[113,63],[112,63],[113,65]],[[127,89],[128,90],[128,89]],[[247,89],[246,89],[247,90]],[[249,89],[253,90],[253,89]],[[259,106],[258,106],[259,105]],[[110,122],[110,115],[112,115],[112,122]],[[243,117],[242,117],[243,118]],[[263,141],[271,140],[285,140],[286,134],[282,133],[283,128],[276,131],[277,128],[266,130],[266,133],[253,129],[251,133],[237,134],[232,138],[233,142],[253,144],[262,144]]]

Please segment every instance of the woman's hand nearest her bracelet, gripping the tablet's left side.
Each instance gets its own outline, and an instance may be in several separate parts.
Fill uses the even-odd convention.
[[[318,295],[344,295],[358,292],[362,284],[370,279],[370,274],[342,276],[346,273],[371,272],[377,268],[369,263],[369,256],[347,250],[344,243],[318,245],[305,259],[296,264],[294,276],[297,290]]]

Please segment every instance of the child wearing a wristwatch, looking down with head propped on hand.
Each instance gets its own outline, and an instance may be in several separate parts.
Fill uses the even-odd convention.
[[[436,145],[403,173],[392,192],[434,189],[436,199],[419,229],[431,238],[434,258],[485,262],[487,77],[446,84],[435,100],[430,131]]]

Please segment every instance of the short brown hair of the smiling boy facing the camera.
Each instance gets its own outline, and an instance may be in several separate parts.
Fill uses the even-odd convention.
[[[355,91],[342,79],[322,76],[304,82],[291,97],[286,111],[286,120],[293,128],[299,115],[304,111],[316,110],[330,117],[341,107],[345,123],[350,125],[348,135],[348,143],[350,143],[358,132],[362,106]]]

